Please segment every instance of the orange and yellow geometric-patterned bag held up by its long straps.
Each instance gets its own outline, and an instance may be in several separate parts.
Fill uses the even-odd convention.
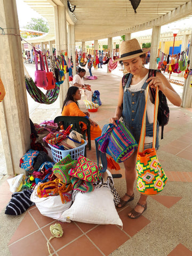
[[[147,88],[147,97],[149,93],[149,86]],[[146,105],[142,119],[142,128],[140,141],[138,146],[137,155],[137,189],[144,195],[156,195],[161,192],[166,184],[167,177],[158,161],[155,142],[156,142],[156,130],[157,130],[157,111],[158,111],[158,88],[156,88],[155,95],[155,110],[154,110],[154,127],[153,127],[153,148],[149,148],[143,151],[145,142],[145,130],[146,130],[146,109],[147,109],[147,97]]]

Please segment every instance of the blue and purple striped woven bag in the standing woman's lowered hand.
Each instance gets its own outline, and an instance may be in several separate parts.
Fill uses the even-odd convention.
[[[98,142],[98,149],[101,153],[107,153],[114,158],[115,162],[121,163],[134,153],[138,144],[122,122],[117,120],[116,124],[117,126],[104,125],[102,135],[96,138],[95,142]],[[107,130],[108,125],[110,127]]]

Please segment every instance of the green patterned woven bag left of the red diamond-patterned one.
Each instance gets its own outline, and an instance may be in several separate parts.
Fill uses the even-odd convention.
[[[63,183],[68,184],[70,183],[70,177],[68,171],[71,168],[74,168],[77,164],[77,160],[73,160],[69,155],[65,158],[61,159],[58,163],[54,164],[53,166],[53,173],[57,178],[59,178]]]

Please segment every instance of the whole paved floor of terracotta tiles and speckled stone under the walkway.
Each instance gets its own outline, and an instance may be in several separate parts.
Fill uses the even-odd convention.
[[[26,65],[33,73],[34,66]],[[99,90],[102,105],[96,113],[90,113],[91,119],[100,127],[109,122],[114,116],[118,100],[118,87],[123,73],[118,66],[111,73],[103,69],[93,69],[97,80],[88,80],[93,90]],[[89,75],[86,69],[86,74]],[[167,76],[167,74],[165,74]],[[168,75],[169,76],[169,75]],[[172,79],[182,77],[171,76]],[[183,87],[171,83],[174,89],[182,95]],[[28,95],[30,118],[35,123],[46,119],[54,119],[60,115],[61,109],[56,101],[53,105],[40,105],[31,101]],[[84,102],[80,108],[85,110]],[[127,213],[138,202],[139,193],[134,188],[135,199],[123,209],[118,209],[123,222],[123,229],[117,225],[90,225],[73,221],[64,223],[63,238],[51,242],[53,255],[111,255],[111,256],[191,256],[192,255],[192,109],[175,107],[169,102],[170,121],[164,128],[164,139],[160,139],[157,155],[168,177],[164,190],[157,196],[148,198],[148,209],[137,220],[127,218]],[[1,146],[1,140],[0,140]],[[2,154],[2,147],[0,148]],[[3,163],[1,157],[0,164]],[[87,149],[87,157],[96,161],[95,146]],[[121,170],[111,170],[111,173],[121,173],[122,178],[114,179],[119,196],[125,193],[124,166]],[[5,173],[5,172],[4,172]],[[5,215],[6,204],[10,201],[11,193],[6,179],[0,180],[0,232],[1,256],[44,256],[49,255],[46,242],[51,236],[49,226],[54,223],[51,218],[43,217],[35,206],[17,217]],[[53,240],[54,240],[53,239]]]

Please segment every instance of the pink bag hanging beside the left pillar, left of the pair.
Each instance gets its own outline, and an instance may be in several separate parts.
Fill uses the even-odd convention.
[[[48,86],[47,78],[46,78],[46,71],[43,69],[43,57],[41,51],[39,51],[39,62],[40,62],[40,67],[41,70],[38,70],[38,60],[37,60],[37,52],[34,47],[35,51],[35,85],[37,87],[43,87],[46,90],[46,87]]]

